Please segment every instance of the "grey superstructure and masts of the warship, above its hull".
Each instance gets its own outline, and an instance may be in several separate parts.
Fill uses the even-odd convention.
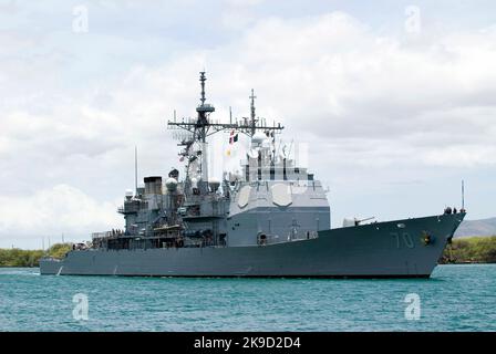
[[[168,122],[169,128],[186,132],[178,144],[184,178],[175,168],[165,181],[145,177],[144,187],[135,195],[127,191],[118,210],[124,232],[93,235],[94,248],[255,246],[314,238],[330,228],[321,183],[286,154],[277,154],[281,124],[257,118],[254,92],[249,118],[210,123],[215,107],[206,103],[205,81],[202,72],[197,118]],[[250,146],[242,173],[225,173],[218,181],[208,179],[207,137],[221,132],[230,132],[231,139],[245,134]]]

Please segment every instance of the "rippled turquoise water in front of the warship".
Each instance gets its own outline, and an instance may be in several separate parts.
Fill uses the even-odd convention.
[[[87,320],[75,320],[78,293]],[[406,294],[420,320],[406,320]],[[0,269],[1,331],[496,331],[496,264],[426,280],[54,277]]]

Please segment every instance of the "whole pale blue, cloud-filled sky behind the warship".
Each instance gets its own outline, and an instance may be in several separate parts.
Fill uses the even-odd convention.
[[[461,206],[495,217],[494,1],[0,0],[0,248],[122,228],[140,177],[180,167],[166,128],[257,113],[308,149],[332,227]],[[221,137],[228,139],[228,135]],[[217,166],[217,165],[216,165]],[[221,166],[211,168],[221,176]]]

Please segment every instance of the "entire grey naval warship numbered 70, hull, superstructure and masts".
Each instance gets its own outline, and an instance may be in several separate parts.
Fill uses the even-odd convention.
[[[347,218],[331,229],[327,190],[277,147],[283,126],[257,116],[254,92],[250,117],[221,123],[206,103],[205,72],[199,80],[197,116],[179,121],[174,114],[167,123],[182,133],[184,171],[136,181],[118,209],[124,230],[93,233],[63,259],[41,259],[41,274],[431,277],[465,209],[386,222]],[[230,145],[244,137],[249,146],[240,171],[223,171],[219,180],[209,178],[208,142],[223,132]]]

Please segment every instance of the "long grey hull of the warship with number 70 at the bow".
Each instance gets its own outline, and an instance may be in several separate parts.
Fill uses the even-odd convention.
[[[71,251],[41,274],[145,277],[426,278],[464,214],[320,231],[271,246]],[[431,235],[425,244],[423,236]]]

